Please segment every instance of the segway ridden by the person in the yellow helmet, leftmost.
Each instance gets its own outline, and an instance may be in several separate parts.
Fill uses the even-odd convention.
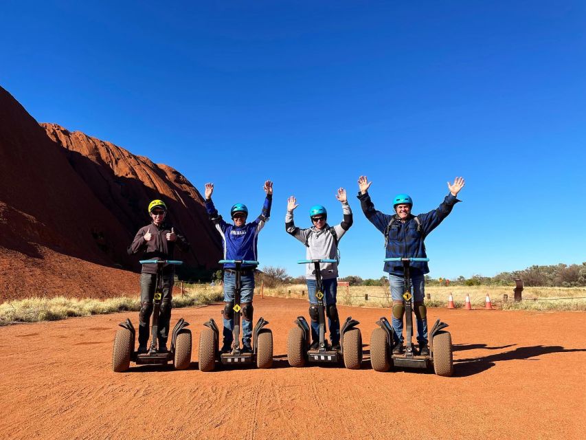
[[[166,365],[173,362],[175,369],[184,370],[191,364],[191,331],[186,329],[189,322],[183,318],[177,321],[171,333],[171,348],[161,353],[157,347],[157,331],[159,327],[159,311],[161,298],[163,297],[163,267],[168,264],[180,265],[182,261],[173,260],[141,260],[141,264],[157,265],[157,281],[155,295],[153,296],[153,322],[151,324],[150,348],[147,353],[138,354],[135,350],[136,331],[130,319],[120,322],[120,327],[114,339],[114,351],[112,355],[112,369],[116,373],[128,370],[130,362],[141,364]]]

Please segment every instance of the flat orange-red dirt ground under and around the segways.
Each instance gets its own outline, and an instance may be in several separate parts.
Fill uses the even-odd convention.
[[[454,377],[370,367],[374,322],[388,310],[339,307],[361,322],[359,371],[286,362],[303,300],[255,298],[270,321],[270,370],[201,373],[202,323],[221,305],[175,309],[194,336],[192,367],[111,371],[117,323],[133,314],[0,328],[2,439],[578,439],[586,436],[586,314],[430,309],[448,322]],[[255,318],[255,319],[256,319]]]

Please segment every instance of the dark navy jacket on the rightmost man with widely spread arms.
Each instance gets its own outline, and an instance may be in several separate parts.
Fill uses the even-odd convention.
[[[368,192],[366,194],[359,192],[358,199],[366,218],[383,234],[392,217],[395,217],[389,230],[389,242],[387,243],[385,257],[387,259],[396,257],[427,258],[425,243],[423,243],[425,237],[442,223],[442,220],[448,216],[455,203],[460,201],[450,193],[437,209],[426,214],[418,214],[417,218],[421,223],[420,230],[418,230],[418,225],[414,220],[416,216],[413,214],[410,214],[405,223],[403,223],[397,214],[383,214],[383,212],[374,209],[374,203],[370,200]],[[411,263],[411,267],[412,276],[429,272],[427,262],[424,261],[414,261]],[[401,261],[398,263],[387,262],[383,270],[389,274],[403,276],[403,263]]]

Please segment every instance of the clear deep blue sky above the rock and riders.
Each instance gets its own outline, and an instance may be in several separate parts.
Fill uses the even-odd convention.
[[[133,4],[131,4],[133,3]],[[427,238],[431,276],[491,276],[586,261],[583,1],[8,1],[0,85],[39,122],[177,168],[225,215],[260,211],[262,265],[303,273],[284,232],[323,203],[354,226],[340,275],[382,275],[383,236],[363,216],[397,192],[462,203]]]

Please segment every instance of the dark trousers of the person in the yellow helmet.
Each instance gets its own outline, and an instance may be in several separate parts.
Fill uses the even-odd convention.
[[[155,296],[155,284],[157,275],[140,274],[140,314],[138,327],[138,344],[146,347],[148,342],[148,333],[150,330],[150,315],[153,314],[153,298]],[[171,299],[173,290],[173,276],[163,276],[163,297],[161,298],[161,308],[159,309],[159,322],[157,339],[159,346],[167,344],[169,337],[169,321],[171,320]]]

